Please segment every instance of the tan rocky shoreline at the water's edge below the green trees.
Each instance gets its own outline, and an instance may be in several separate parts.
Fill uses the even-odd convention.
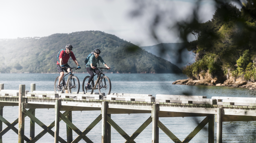
[[[172,84],[181,84],[181,85],[206,85],[206,86],[229,86],[229,87],[242,87],[242,88],[252,88],[256,87],[256,83],[247,83],[245,80],[236,79],[227,79],[223,83],[220,83],[218,80],[192,80],[182,79],[174,81]]]

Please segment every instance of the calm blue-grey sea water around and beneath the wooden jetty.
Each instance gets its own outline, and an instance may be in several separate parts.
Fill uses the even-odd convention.
[[[36,84],[36,90],[53,91],[54,80],[59,74],[18,74],[1,73],[0,83],[4,83],[4,89],[18,90],[19,84],[25,84],[26,90],[30,90],[30,84]],[[80,80],[80,85],[85,76],[89,74],[75,74]],[[207,96],[230,96],[230,97],[248,97],[246,89],[218,87],[218,86],[187,86],[172,85],[178,79],[186,79],[183,74],[106,74],[111,80],[112,93],[143,93],[143,94],[176,94],[176,95],[198,95]],[[82,88],[80,89],[82,91]],[[54,109],[36,109],[36,117],[46,126],[54,121]],[[100,111],[73,111],[72,122],[81,131],[90,125],[90,123],[100,115]],[[3,117],[9,122],[18,118],[18,107],[5,106]],[[128,134],[131,135],[150,117],[150,114],[112,114],[111,118]],[[135,120],[136,119],[136,120]],[[160,118],[160,121],[181,141],[193,131],[204,117],[175,117]],[[255,135],[256,122],[224,122],[223,123],[223,142],[256,142]],[[29,138],[30,119],[25,118],[25,135]],[[3,123],[3,129],[7,127]],[[18,125],[15,126],[18,128]],[[208,142],[208,125],[205,126],[190,142],[205,143]],[[36,135],[43,129],[36,124]],[[54,131],[54,128],[52,129]],[[87,134],[93,142],[101,142],[101,121]],[[60,122],[60,137],[66,140],[66,124]],[[73,132],[73,139],[77,134]],[[216,137],[216,123],[215,123]],[[152,124],[150,124],[139,136],[135,142],[148,143],[152,138]],[[216,140],[216,138],[215,138]],[[17,142],[18,135],[10,130],[2,137],[3,143]],[[53,142],[54,137],[46,133],[38,142]],[[81,140],[80,142],[84,142]],[[125,142],[125,139],[114,128],[111,128],[111,142]],[[161,130],[159,130],[159,142],[172,142],[172,140]]]

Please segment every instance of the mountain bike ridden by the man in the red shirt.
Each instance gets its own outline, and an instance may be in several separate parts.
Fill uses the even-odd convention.
[[[61,86],[61,91],[59,91],[57,89],[57,85],[58,85],[58,82],[59,82],[59,77],[60,76],[57,76],[56,79],[55,79],[55,83],[54,83],[54,92],[55,93],[58,93],[58,92],[61,92],[61,93],[64,93],[65,90],[68,91],[68,93],[76,93],[78,94],[79,93],[79,90],[80,90],[80,83],[79,83],[79,79],[74,76],[74,74],[72,74],[72,71],[74,72],[73,69],[76,69],[77,70],[77,67],[72,67],[70,68],[70,72],[68,72],[65,76],[68,75],[68,79],[67,79],[67,83],[65,82],[65,76],[63,76],[61,82],[60,82],[60,86]],[[70,96],[70,97],[76,97],[76,96]]]

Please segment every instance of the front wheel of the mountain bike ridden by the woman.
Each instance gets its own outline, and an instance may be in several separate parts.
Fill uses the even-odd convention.
[[[98,84],[98,90],[100,95],[108,95],[111,91],[111,82],[107,76],[102,76]]]

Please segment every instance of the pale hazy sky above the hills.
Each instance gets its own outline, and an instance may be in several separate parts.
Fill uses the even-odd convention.
[[[143,4],[141,4],[141,2]],[[0,39],[45,37],[55,33],[99,30],[139,46],[157,44],[149,34],[155,12],[163,13],[158,27],[160,42],[181,42],[170,27],[191,15],[195,0],[1,0]],[[142,7],[144,13],[132,17]],[[204,0],[200,20],[212,18],[212,0]]]

